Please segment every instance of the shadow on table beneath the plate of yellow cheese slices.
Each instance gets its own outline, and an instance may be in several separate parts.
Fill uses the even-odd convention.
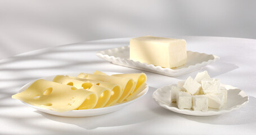
[[[145,122],[147,120],[154,118],[155,114],[152,114],[152,112],[147,110],[147,107],[148,107],[147,104],[152,104],[152,102],[154,102],[154,100],[152,100],[152,93],[155,90],[156,88],[149,87],[149,92],[144,97],[142,97],[143,100],[140,99],[139,101],[132,104],[132,105],[138,104],[136,105],[137,110],[134,110],[134,109],[132,110],[132,106],[129,105],[124,109],[115,111],[114,113],[98,115],[98,116],[80,117],[80,118],[55,116],[51,114],[42,113],[41,111],[35,111],[35,112],[41,114],[47,119],[51,119],[61,123],[78,125],[79,127],[82,127],[85,129],[131,125],[131,124]]]

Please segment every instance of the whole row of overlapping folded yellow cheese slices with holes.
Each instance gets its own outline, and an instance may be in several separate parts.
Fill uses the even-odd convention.
[[[57,75],[52,81],[36,80],[12,98],[59,112],[96,109],[131,100],[145,88],[146,80],[144,73]]]

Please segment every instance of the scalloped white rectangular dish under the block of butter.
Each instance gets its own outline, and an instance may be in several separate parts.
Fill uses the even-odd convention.
[[[130,60],[129,46],[114,48],[105,51],[98,51],[96,55],[116,65],[127,66],[129,68],[145,70],[156,74],[167,75],[170,77],[178,77],[180,75],[199,70],[204,66],[212,64],[217,59],[219,59],[219,57],[215,55],[187,51],[187,63],[183,66],[179,66],[178,68],[170,69]]]

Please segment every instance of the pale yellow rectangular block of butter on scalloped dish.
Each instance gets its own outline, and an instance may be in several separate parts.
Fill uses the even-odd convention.
[[[163,68],[176,68],[187,62],[186,41],[152,36],[132,38],[130,59]]]

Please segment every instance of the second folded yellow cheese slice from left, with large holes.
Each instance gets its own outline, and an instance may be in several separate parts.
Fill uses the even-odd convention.
[[[98,86],[98,85],[93,84],[89,81],[84,82],[84,81],[81,81],[81,80],[76,80],[76,79],[69,78],[68,76],[57,75],[53,79],[53,82],[62,83],[62,84],[74,86],[76,88],[83,88],[83,89],[86,89],[88,91],[96,92],[97,96],[98,96],[98,101],[97,101],[97,104],[94,108],[104,107],[107,104],[107,101],[109,101],[109,98],[111,96],[110,89]]]

